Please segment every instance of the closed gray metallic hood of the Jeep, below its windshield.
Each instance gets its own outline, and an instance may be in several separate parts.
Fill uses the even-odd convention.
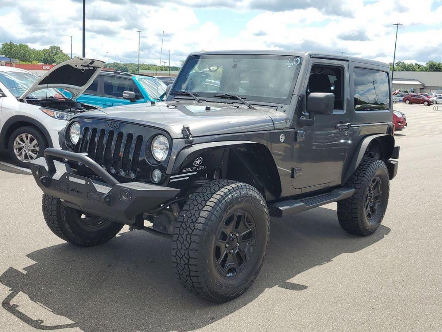
[[[183,125],[189,126],[194,137],[289,127],[288,117],[276,107],[255,106],[255,110],[240,105],[195,102],[160,102],[131,104],[104,108],[79,115],[110,121],[124,121],[164,129],[172,139],[183,138]]]

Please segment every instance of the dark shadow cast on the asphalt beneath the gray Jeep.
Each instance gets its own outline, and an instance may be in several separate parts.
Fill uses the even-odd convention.
[[[238,299],[221,305],[181,286],[171,269],[168,239],[124,232],[98,247],[63,243],[27,255],[36,263],[24,268],[25,274],[10,267],[0,276],[0,282],[10,289],[2,306],[44,330],[191,331],[244,307],[267,288],[302,291],[315,287],[287,281],[338,255],[362,250],[389,232],[381,225],[372,236],[349,235],[339,227],[336,212],[328,208],[274,219],[266,262],[254,285]],[[68,318],[67,322],[31,318],[23,312],[26,305],[15,299],[23,293],[50,309],[52,315]]]

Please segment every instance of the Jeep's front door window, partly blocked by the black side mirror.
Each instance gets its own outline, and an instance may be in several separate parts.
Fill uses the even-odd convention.
[[[334,109],[344,109],[344,73],[340,66],[313,65],[307,93],[325,92],[335,95]]]

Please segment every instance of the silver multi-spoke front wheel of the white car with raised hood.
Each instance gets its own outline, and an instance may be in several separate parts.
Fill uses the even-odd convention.
[[[43,134],[33,127],[19,127],[12,132],[8,142],[8,152],[12,162],[29,168],[29,162],[43,156],[48,147]]]

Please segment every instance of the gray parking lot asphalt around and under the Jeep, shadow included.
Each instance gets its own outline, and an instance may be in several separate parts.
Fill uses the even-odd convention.
[[[408,127],[377,232],[344,232],[336,204],[273,219],[261,273],[222,305],[180,285],[168,239],[57,238],[32,176],[0,164],[0,331],[442,331],[442,111],[394,109]]]

